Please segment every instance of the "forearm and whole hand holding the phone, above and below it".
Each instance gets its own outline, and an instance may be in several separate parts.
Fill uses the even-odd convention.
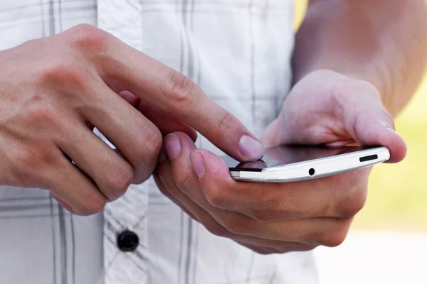
[[[423,75],[421,0],[312,0],[292,58],[295,85],[263,133],[280,143],[384,145],[391,163],[406,144],[394,119]],[[164,139],[160,190],[206,229],[258,253],[307,251],[344,241],[364,206],[370,169],[289,183],[237,182],[185,133]]]

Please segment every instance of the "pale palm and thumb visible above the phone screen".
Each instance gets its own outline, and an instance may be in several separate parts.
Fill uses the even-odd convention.
[[[295,84],[262,140],[267,146],[387,146],[389,162],[399,162],[406,155],[406,143],[394,129],[393,117],[372,84],[318,70]]]

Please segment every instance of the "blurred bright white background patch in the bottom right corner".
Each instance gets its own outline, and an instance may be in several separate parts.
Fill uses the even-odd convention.
[[[426,284],[427,234],[352,231],[337,248],[315,250],[320,284]]]

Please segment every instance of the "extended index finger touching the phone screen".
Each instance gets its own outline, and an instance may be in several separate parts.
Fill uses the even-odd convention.
[[[241,121],[176,70],[116,38],[100,65],[103,80],[116,92],[127,89],[147,104],[184,121],[233,158],[246,161],[263,156],[263,144]]]

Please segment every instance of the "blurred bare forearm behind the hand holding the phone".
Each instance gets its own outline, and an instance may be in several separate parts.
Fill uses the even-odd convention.
[[[334,70],[373,84],[396,116],[426,69],[426,27],[424,0],[310,0],[295,37],[294,82]]]

